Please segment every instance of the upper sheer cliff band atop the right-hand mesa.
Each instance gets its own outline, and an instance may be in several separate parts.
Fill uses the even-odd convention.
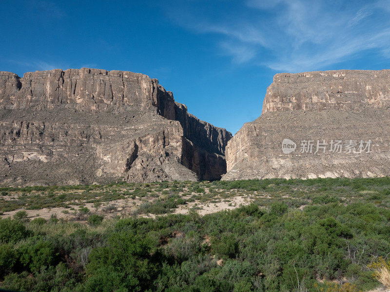
[[[390,107],[390,70],[317,71],[276,74],[264,97],[262,113],[386,107]]]

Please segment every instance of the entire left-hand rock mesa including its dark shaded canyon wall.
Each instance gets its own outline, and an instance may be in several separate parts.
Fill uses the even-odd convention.
[[[146,75],[0,72],[0,184],[215,180],[231,133]]]

